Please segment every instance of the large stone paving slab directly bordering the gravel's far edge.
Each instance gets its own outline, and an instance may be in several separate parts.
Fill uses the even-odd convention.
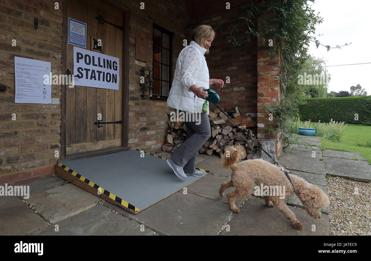
[[[371,165],[367,161],[328,158],[326,174],[371,183]]]

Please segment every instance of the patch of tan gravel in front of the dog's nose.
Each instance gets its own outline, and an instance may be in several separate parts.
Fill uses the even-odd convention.
[[[371,235],[371,183],[326,178],[331,235]]]

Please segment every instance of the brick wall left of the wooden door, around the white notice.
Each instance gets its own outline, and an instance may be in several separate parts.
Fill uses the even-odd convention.
[[[19,184],[55,173],[61,86],[52,85],[53,104],[14,103],[14,56],[49,61],[52,73],[61,73],[63,1],[58,1],[59,9],[55,2],[0,0],[0,84],[7,87],[0,91],[0,184]]]

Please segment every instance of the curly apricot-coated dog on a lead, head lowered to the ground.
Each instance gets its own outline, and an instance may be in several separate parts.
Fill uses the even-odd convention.
[[[236,188],[235,191],[227,194],[228,204],[234,213],[240,211],[234,201],[250,195],[255,184],[263,184],[263,186],[285,186],[285,199],[295,193],[311,217],[321,218],[320,208],[327,207],[330,202],[328,196],[318,186],[290,173],[292,186],[280,167],[262,159],[245,160],[239,163],[242,153],[243,148],[241,146],[227,146],[222,157],[223,168],[231,168],[233,173],[231,180],[221,183],[219,194],[223,197],[227,188]],[[264,199],[268,207],[276,206],[294,227],[304,228],[302,222],[296,218],[295,214],[283,201],[284,199],[280,199],[279,195],[264,196]]]

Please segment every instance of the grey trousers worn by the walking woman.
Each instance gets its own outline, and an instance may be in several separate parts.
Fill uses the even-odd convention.
[[[185,141],[171,154],[171,159],[181,167],[184,173],[193,173],[196,171],[194,164],[196,163],[196,156],[198,150],[204,145],[205,141],[211,136],[211,128],[209,117],[207,113],[199,113],[201,117],[192,117],[184,121],[187,128],[187,136]]]

